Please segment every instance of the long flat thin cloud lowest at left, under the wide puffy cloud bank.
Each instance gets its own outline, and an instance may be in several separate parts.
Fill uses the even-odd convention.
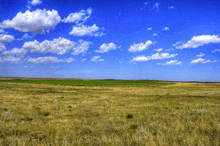
[[[39,64],[39,63],[71,63],[75,59],[57,59],[57,57],[39,57],[39,58],[27,58],[28,63]]]

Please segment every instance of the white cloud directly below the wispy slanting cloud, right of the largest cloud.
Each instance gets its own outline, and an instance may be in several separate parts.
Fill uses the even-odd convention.
[[[98,32],[99,27],[96,26],[96,24],[93,24],[92,26],[85,26],[85,25],[81,25],[81,26],[74,26],[72,31],[69,33],[73,36],[86,36],[86,35],[90,35],[90,36],[102,36],[103,33]]]

